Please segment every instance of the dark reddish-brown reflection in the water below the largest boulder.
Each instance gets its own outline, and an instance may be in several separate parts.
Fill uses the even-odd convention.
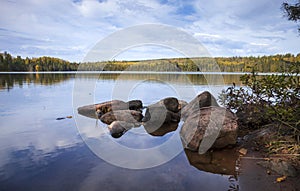
[[[184,152],[190,165],[201,171],[237,176],[238,154],[236,149],[208,151],[201,155],[188,149],[184,149]]]

